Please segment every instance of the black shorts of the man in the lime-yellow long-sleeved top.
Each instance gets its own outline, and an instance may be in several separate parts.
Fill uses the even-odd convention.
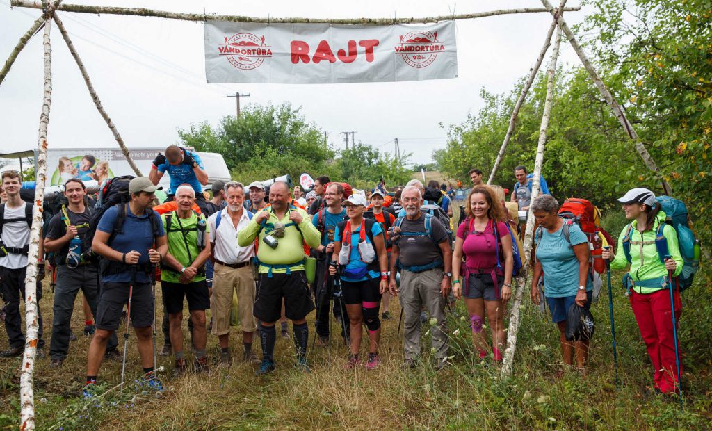
[[[307,286],[304,271],[292,271],[292,274],[260,274],[253,315],[262,322],[276,322],[282,315],[284,298],[285,316],[298,321],[311,313],[316,307]]]

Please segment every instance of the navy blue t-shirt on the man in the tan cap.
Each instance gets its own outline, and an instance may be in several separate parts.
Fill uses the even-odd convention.
[[[163,229],[163,223],[161,222],[161,217],[157,212],[152,212],[153,217],[156,217],[158,236],[162,237],[166,233]],[[104,215],[101,217],[98,226],[96,227],[101,232],[106,232],[111,234],[114,232],[114,225],[116,219],[119,217],[118,207],[111,207],[106,210]],[[138,259],[139,264],[148,263],[148,249],[153,248],[153,224],[151,220],[142,215],[137,217],[126,204],[126,219],[124,221],[123,232],[117,234],[111,243],[108,244],[112,249],[116,251],[121,251],[122,253],[128,253],[129,251],[138,251],[141,256]],[[118,281],[125,282],[131,281],[131,274],[129,271],[121,272],[119,274],[111,274],[107,276],[102,276],[103,281]],[[150,283],[151,279],[143,271],[136,272],[137,283]]]

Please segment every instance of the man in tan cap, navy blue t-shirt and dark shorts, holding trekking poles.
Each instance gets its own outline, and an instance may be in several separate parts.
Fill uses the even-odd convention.
[[[150,274],[168,252],[163,224],[150,206],[157,189],[159,187],[147,177],[131,180],[130,201],[107,209],[94,234],[92,250],[103,258],[102,289],[97,305],[96,332],[87,360],[88,393],[91,385],[96,383],[106,343],[119,327],[127,302],[131,308],[127,318],[131,319],[136,332],[144,375],[150,379],[153,388],[162,389],[153,373],[155,364],[151,354],[155,305]]]

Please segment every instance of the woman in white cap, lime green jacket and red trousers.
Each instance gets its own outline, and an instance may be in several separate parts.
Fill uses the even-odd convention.
[[[675,341],[671,319],[668,272],[678,276],[682,271],[682,255],[675,229],[665,223],[665,213],[649,189],[636,187],[618,199],[623,204],[625,218],[632,220],[618,238],[616,254],[603,251],[603,259],[611,260],[611,269],[630,266],[624,276],[624,286],[648,355],[653,363],[654,388],[659,393],[679,390],[675,366]],[[661,234],[656,244],[656,237]],[[661,242],[671,259],[659,254]],[[675,316],[680,317],[680,294],[674,289]],[[680,365],[681,366],[681,365]]]

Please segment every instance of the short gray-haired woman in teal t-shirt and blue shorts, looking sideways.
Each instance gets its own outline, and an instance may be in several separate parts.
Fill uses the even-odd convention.
[[[567,341],[565,331],[566,313],[573,303],[586,309],[591,306],[593,283],[589,271],[588,239],[577,224],[560,218],[558,209],[559,202],[550,194],[540,195],[530,206],[540,225],[534,239],[536,263],[531,298],[539,305],[537,284],[543,275],[546,303],[551,312],[551,321],[559,328],[564,363],[573,365],[575,348],[576,367],[585,373],[590,341]],[[570,224],[565,227],[565,223]],[[568,229],[568,239],[564,229]]]

